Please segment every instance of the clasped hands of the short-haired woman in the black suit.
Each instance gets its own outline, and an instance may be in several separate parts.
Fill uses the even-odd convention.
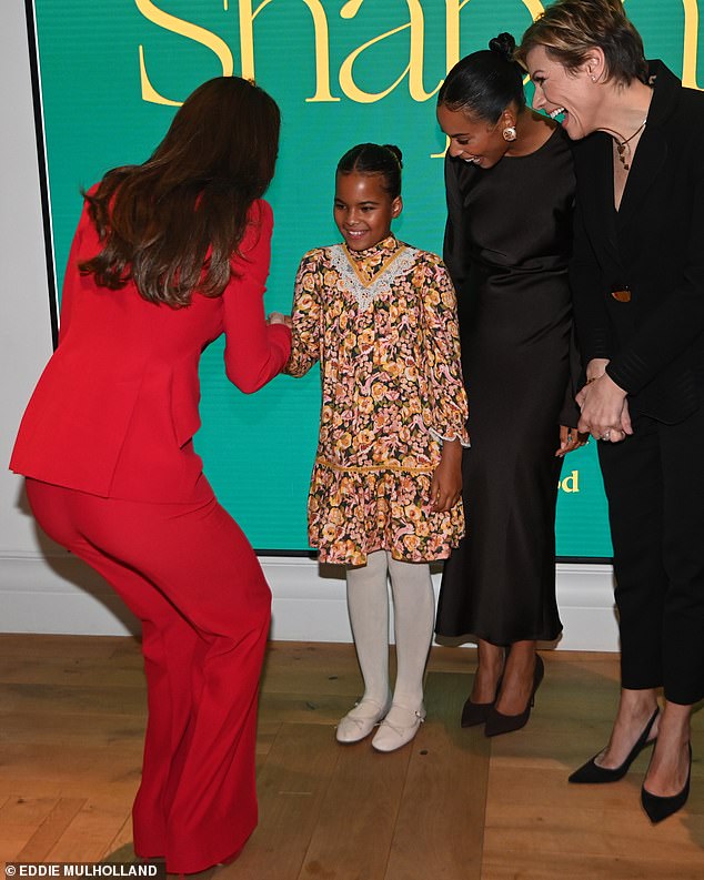
[[[620,443],[633,434],[626,392],[604,372],[609,361],[595,358],[586,368],[586,385],[575,397],[582,414],[577,431],[605,443]]]

